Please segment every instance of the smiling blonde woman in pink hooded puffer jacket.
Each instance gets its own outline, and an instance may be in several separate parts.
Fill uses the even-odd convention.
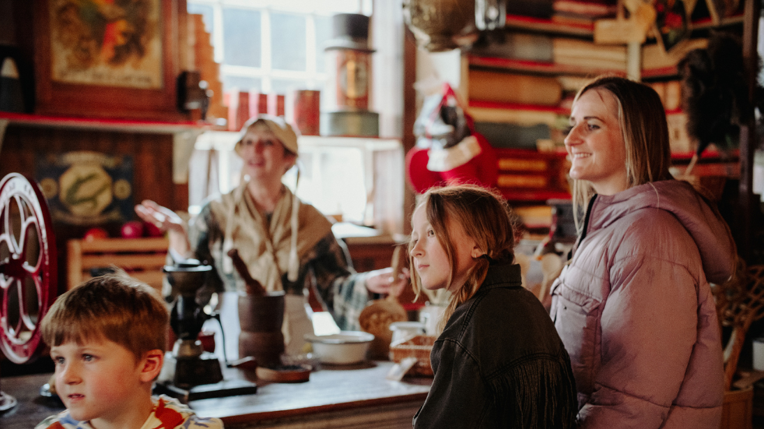
[[[586,210],[551,315],[571,357],[579,423],[716,429],[724,364],[708,282],[733,271],[727,223],[669,174],[652,88],[597,78],[578,92],[570,123],[574,203]]]

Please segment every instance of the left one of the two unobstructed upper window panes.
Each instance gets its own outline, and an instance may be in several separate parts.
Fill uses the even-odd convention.
[[[225,64],[260,67],[260,12],[247,9],[223,9]]]

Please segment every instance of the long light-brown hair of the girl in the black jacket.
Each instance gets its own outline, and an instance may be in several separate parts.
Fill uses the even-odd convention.
[[[478,292],[490,262],[511,264],[514,260],[513,216],[503,197],[483,187],[468,184],[431,188],[422,196],[419,207],[425,208],[427,221],[448,255],[451,272],[448,274],[446,289],[452,290],[457,269],[455,247],[458,243],[453,242],[449,233],[453,225],[461,225],[468,237],[474,239],[478,248],[484,252],[483,256],[474,259],[475,264],[468,271],[465,283],[452,290],[451,300],[439,323],[439,331],[442,331],[456,307]],[[409,253],[413,245],[413,242],[409,243]],[[414,267],[411,256],[410,267]],[[422,283],[416,272],[411,277],[411,283],[419,297]]]

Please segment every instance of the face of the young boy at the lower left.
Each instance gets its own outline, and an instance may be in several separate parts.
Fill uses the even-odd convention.
[[[68,341],[51,347],[50,357],[56,365],[56,391],[78,421],[91,421],[93,427],[115,424],[149,399],[146,358],[137,360],[114,341]]]

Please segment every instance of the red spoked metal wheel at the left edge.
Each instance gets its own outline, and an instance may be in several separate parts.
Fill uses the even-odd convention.
[[[14,363],[43,347],[40,322],[57,296],[57,252],[45,197],[34,181],[0,181],[0,347]]]

